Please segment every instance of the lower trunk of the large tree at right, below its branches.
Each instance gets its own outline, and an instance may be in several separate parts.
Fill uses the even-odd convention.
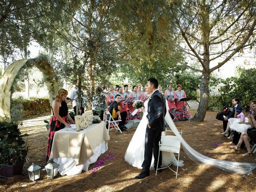
[[[195,116],[192,121],[203,122],[206,114],[208,102],[209,102],[209,77],[210,74],[203,73],[201,84],[200,84],[200,102]]]

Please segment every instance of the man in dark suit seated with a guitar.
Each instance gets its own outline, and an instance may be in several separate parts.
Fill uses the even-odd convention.
[[[118,104],[120,103],[120,100],[121,100],[121,95],[116,94],[115,100],[110,104],[108,110],[112,115],[112,117],[114,118],[114,120],[122,120],[119,122],[119,125],[118,125],[119,128],[121,130],[126,130],[126,126],[124,126],[124,124],[125,124],[127,112],[123,111],[120,113],[120,106],[118,106]],[[109,116],[107,118],[109,119]]]

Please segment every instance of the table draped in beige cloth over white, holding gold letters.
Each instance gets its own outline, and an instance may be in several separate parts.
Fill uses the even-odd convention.
[[[49,159],[53,158],[60,165],[61,175],[80,174],[108,150],[109,140],[104,122],[92,124],[82,131],[63,128],[54,134]]]

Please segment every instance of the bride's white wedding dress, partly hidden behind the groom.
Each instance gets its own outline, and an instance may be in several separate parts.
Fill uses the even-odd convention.
[[[148,114],[148,100],[144,102],[145,111],[138,125],[132,140],[126,150],[124,155],[124,160],[128,162],[128,164],[142,168],[141,165],[144,161],[144,145],[145,145],[145,135],[146,135],[146,125],[148,124],[148,119],[146,118]],[[162,132],[162,138],[164,138],[164,132]],[[170,152],[162,152],[162,166],[167,166],[168,164],[172,163],[174,166],[177,166],[178,161],[173,153]],[[183,161],[179,161],[179,167],[184,166]],[[151,169],[154,168],[154,156],[152,156],[151,161]]]

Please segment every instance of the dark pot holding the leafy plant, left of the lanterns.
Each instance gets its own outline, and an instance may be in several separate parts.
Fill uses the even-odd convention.
[[[14,175],[21,175],[23,170],[24,162],[20,162],[16,165],[0,165],[0,176],[12,177]]]

